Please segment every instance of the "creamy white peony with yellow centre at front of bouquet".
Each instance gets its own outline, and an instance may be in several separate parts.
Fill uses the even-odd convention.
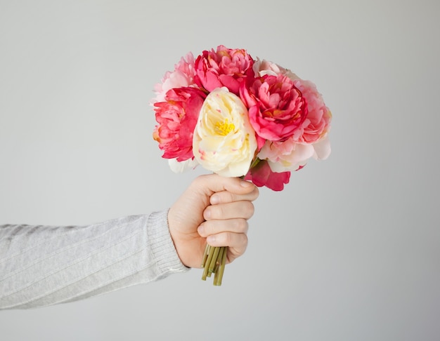
[[[245,175],[257,149],[247,109],[237,95],[218,88],[205,99],[193,136],[195,159],[228,177]]]

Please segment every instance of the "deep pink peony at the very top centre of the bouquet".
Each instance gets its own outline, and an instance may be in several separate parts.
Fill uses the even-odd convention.
[[[238,95],[242,80],[254,75],[253,62],[246,50],[219,45],[216,51],[203,51],[195,60],[195,83],[207,91],[226,86]]]

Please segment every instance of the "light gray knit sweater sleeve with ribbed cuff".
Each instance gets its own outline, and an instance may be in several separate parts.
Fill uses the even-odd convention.
[[[167,211],[87,226],[0,225],[0,309],[82,300],[186,271]]]

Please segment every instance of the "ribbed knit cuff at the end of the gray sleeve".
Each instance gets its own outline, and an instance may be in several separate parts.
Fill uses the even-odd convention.
[[[168,226],[168,210],[153,212],[148,217],[148,239],[157,269],[166,275],[169,272],[186,272],[188,267],[183,265],[177,255]]]

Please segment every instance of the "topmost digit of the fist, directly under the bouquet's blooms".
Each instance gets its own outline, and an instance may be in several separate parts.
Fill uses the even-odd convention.
[[[217,174],[200,175],[193,180],[192,185],[209,196],[215,192],[223,191],[234,194],[247,194],[252,192],[255,187],[252,182],[240,178],[226,178]]]

